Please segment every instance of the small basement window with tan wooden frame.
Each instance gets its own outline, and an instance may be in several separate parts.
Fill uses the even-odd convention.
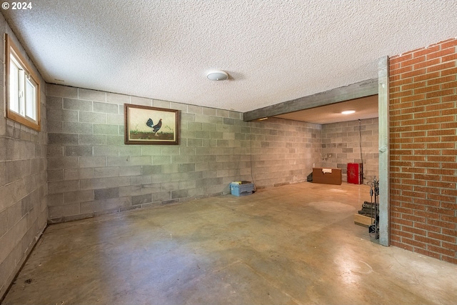
[[[39,131],[39,78],[8,34],[5,41],[6,117]]]

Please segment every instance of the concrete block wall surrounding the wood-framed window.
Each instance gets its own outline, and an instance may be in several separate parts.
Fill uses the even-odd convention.
[[[4,35],[15,36],[0,14],[0,301],[46,227],[46,96],[41,131],[5,118]],[[16,45],[21,48],[19,42]],[[22,54],[26,53],[21,49]],[[29,62],[31,64],[31,62]],[[31,66],[33,66],[31,64]],[[39,75],[39,74],[37,74]],[[43,79],[41,84],[44,85]],[[45,88],[46,86],[41,86]]]

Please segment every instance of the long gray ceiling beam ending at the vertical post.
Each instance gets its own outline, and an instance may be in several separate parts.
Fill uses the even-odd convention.
[[[253,121],[256,119],[263,119],[268,116],[288,114],[294,111],[339,103],[340,101],[349,101],[351,99],[358,99],[375,94],[378,94],[378,79],[368,79],[366,81],[360,81],[356,84],[247,111],[243,113],[243,121]]]

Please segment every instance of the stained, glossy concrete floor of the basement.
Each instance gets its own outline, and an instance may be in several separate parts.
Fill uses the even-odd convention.
[[[456,265],[353,224],[368,192],[305,182],[51,225],[3,304],[456,304]]]

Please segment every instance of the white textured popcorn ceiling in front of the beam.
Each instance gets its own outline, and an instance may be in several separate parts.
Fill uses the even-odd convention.
[[[376,78],[378,58],[457,36],[457,0],[32,4],[2,14],[47,82],[243,112]]]

